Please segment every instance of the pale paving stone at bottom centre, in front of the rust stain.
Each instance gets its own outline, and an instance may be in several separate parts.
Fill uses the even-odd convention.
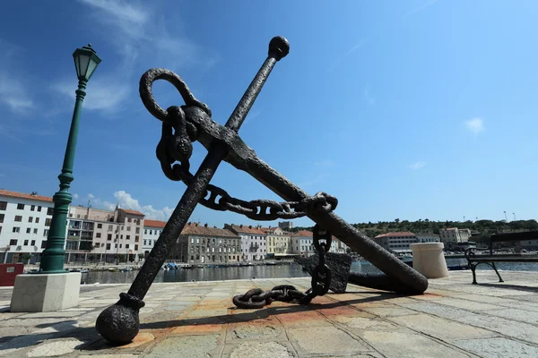
[[[357,354],[371,350],[368,345],[335,327],[289,328],[293,346],[306,354]]]

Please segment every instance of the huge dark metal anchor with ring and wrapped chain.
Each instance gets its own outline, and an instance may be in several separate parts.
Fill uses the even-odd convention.
[[[186,183],[187,190],[179,200],[178,206],[170,216],[159,240],[155,243],[129,291],[126,294],[120,294],[120,300],[102,311],[97,319],[96,328],[108,341],[126,344],[138,333],[138,313],[144,305],[143,297],[198,202],[207,208],[230,210],[258,220],[308,216],[318,224],[318,227],[322,227],[329,237],[334,234],[386,273],[384,277],[358,277],[354,283],[376,286],[376,282],[381,279],[386,289],[415,294],[423,293],[428,287],[428,280],[425,277],[397,260],[369,237],[344,222],[342,218],[334,215],[332,211],[338,203],[336,198],[325,192],[309,196],[307,192],[303,192],[263,160],[257,158],[255,151],[239,137],[239,127],[273,70],[274,64],[288,55],[289,50],[290,47],[285,38],[276,37],[271,40],[265,63],[224,126],[213,121],[209,107],[194,97],[187,84],[176,73],[165,69],[152,69],[143,74],[140,81],[143,104],[152,115],[162,121],[162,136],[157,147],[157,157],[161,161],[164,174],[170,180]],[[169,107],[167,110],[159,107],[152,96],[152,82],[157,80],[166,80],[173,84],[185,100],[185,105]],[[189,172],[188,158],[192,153],[192,145],[189,141],[200,141],[208,149],[208,154],[195,175]],[[287,201],[239,200],[210,184],[222,160],[254,176],[260,183]],[[176,161],[181,164],[174,164]],[[325,250],[328,250],[328,247],[324,246],[323,251]],[[317,274],[325,281],[319,282],[316,279],[315,282],[313,277],[313,287],[307,294],[308,298],[302,300],[303,303],[308,303],[316,295],[325,294],[329,289],[330,271],[325,272],[325,256],[323,263],[323,268],[319,267]],[[328,280],[326,277],[329,277]],[[317,287],[314,287],[314,284]],[[296,297],[300,301],[303,298],[300,293],[294,293],[290,287],[279,287],[275,291],[273,294],[265,294],[263,299],[270,300],[275,297],[294,299]],[[251,293],[251,296],[255,294]]]

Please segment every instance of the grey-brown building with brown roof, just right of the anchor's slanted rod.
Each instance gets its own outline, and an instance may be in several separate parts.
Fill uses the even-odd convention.
[[[169,260],[224,264],[241,257],[241,237],[228,229],[187,223],[169,253]]]

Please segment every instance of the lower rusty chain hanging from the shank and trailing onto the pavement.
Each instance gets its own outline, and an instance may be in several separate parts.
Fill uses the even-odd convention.
[[[325,242],[320,243],[320,240],[325,240]],[[295,286],[290,285],[275,286],[269,291],[253,288],[245,294],[235,295],[232,299],[233,304],[238,308],[258,309],[273,301],[308,304],[315,297],[325,295],[331,286],[332,277],[331,268],[325,264],[325,252],[331,248],[333,235],[316,225],[312,242],[318,252],[319,262],[312,272],[311,287],[307,292],[302,293]]]

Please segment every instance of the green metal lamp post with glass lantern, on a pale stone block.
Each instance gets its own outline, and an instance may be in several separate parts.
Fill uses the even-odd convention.
[[[67,211],[71,204],[71,194],[68,192],[71,182],[73,182],[73,162],[74,149],[76,147],[76,138],[78,135],[79,122],[82,111],[82,101],[86,96],[86,84],[91,78],[91,74],[100,64],[101,60],[95,53],[91,45],[77,48],[73,54],[74,66],[78,77],[78,90],[76,93],[76,102],[74,104],[73,119],[71,120],[71,129],[67,139],[65,149],[64,166],[62,174],[58,175],[60,180],[60,191],[54,194],[54,214],[50,223],[48,232],[47,248],[43,251],[39,273],[55,274],[65,273],[65,226],[67,224]]]

